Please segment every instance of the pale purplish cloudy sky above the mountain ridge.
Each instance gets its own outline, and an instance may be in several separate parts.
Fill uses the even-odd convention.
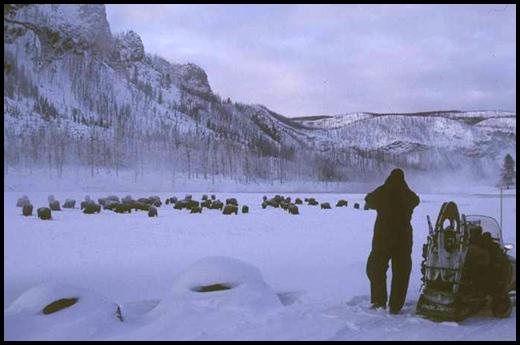
[[[113,33],[286,116],[516,110],[516,5],[107,5]]]

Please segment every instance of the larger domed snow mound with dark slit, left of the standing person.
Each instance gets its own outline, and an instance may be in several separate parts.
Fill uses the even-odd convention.
[[[225,289],[218,289],[217,284]],[[206,257],[195,262],[176,279],[171,292],[171,303],[210,309],[266,310],[281,306],[258,268],[228,257]]]

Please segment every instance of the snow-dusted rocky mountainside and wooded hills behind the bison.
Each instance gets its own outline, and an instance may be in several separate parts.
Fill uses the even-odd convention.
[[[112,35],[103,5],[4,7],[4,50],[11,165],[335,180],[394,165],[494,174],[516,155],[515,113],[288,119],[223,100],[199,66],[147,54],[133,31]]]

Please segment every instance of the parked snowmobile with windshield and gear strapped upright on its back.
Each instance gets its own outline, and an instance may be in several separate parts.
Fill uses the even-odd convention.
[[[493,316],[509,317],[516,304],[516,259],[502,230],[488,216],[460,215],[443,203],[423,245],[422,291],[416,313],[436,321],[462,321],[491,301]]]

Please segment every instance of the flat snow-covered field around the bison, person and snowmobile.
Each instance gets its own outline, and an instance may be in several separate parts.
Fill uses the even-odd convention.
[[[365,264],[376,213],[352,208],[354,202],[363,207],[364,194],[284,194],[333,206],[302,205],[296,216],[263,210],[263,193],[216,193],[221,200],[236,197],[250,213],[189,214],[163,204],[157,218],[74,209],[53,212],[51,221],[23,217],[15,207],[23,194],[36,210],[47,206],[49,193],[4,192],[4,339],[516,340],[516,307],[508,319],[483,311],[461,323],[415,315],[426,215],[434,220],[442,202],[453,200],[462,213],[499,220],[496,192],[420,195],[410,287],[397,316],[367,309]],[[61,203],[75,198],[77,205],[85,194],[54,193]],[[128,193],[90,196],[110,194]],[[132,193],[155,194],[164,200],[186,193]],[[504,240],[516,245],[516,192],[507,194]],[[201,195],[193,193],[197,200]],[[348,207],[335,208],[339,199]],[[213,280],[236,287],[189,289]],[[51,301],[73,295],[80,297],[76,305],[39,314]]]

